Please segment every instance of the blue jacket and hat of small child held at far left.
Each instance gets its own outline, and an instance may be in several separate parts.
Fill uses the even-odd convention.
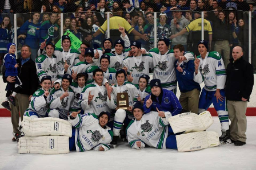
[[[11,45],[15,45],[14,43],[7,44],[7,51],[9,52],[9,49]],[[3,62],[5,64],[5,76],[18,76],[18,69],[14,67],[15,64],[17,64],[15,53],[7,53],[5,57],[3,58]]]

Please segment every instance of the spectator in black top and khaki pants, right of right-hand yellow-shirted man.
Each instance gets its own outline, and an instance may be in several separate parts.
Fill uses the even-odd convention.
[[[219,18],[213,20],[214,25],[214,51],[222,54],[222,58],[227,68],[230,58],[230,47],[232,47],[232,31],[229,25],[229,21],[225,19],[226,15],[224,11],[219,11]]]

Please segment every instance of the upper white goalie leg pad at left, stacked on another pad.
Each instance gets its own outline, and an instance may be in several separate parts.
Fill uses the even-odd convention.
[[[72,136],[72,126],[68,121],[58,118],[23,117],[21,123],[25,136]]]

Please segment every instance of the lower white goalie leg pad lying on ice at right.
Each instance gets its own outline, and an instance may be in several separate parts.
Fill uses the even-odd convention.
[[[192,132],[189,134],[176,135],[179,152],[197,151],[207,147],[219,145],[217,132]]]

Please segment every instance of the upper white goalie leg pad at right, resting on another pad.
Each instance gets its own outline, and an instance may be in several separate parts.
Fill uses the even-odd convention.
[[[177,134],[178,132],[188,133],[204,131],[213,124],[213,118],[209,111],[204,112],[204,114],[202,113],[202,115],[197,115],[195,113],[182,113],[175,115],[174,117],[170,117],[168,121],[174,134]]]

